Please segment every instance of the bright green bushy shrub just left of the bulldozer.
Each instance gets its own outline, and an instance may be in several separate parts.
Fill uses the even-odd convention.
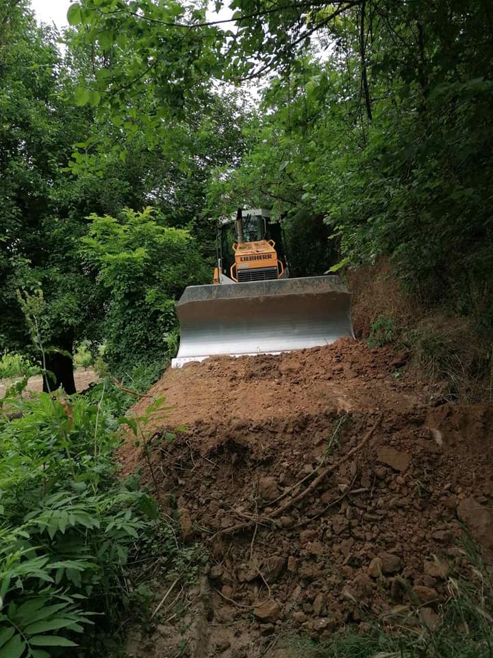
[[[186,285],[207,281],[209,271],[190,232],[166,226],[153,208],[90,219],[83,253],[110,295],[105,361],[128,380],[136,363],[165,365],[177,326],[174,302]]]

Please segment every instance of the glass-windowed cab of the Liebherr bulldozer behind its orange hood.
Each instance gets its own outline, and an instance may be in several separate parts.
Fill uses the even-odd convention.
[[[229,277],[231,265],[235,262],[233,244],[240,241],[235,226],[236,215],[220,221],[217,236],[217,262],[223,275]],[[242,215],[242,241],[257,242],[273,240],[277,258],[287,269],[286,256],[283,249],[282,228],[280,223],[270,221],[270,212],[265,208],[246,210]]]

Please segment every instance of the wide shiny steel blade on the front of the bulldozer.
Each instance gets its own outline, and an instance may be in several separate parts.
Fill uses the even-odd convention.
[[[173,367],[208,356],[276,354],[354,338],[351,293],[338,276],[190,286],[179,302]]]

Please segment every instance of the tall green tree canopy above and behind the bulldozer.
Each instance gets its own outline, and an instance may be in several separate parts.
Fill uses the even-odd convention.
[[[101,217],[122,228],[145,216],[156,236],[188,230],[203,278],[216,219],[241,205],[283,221],[301,276],[390,257],[427,303],[491,328],[486,0],[231,0],[215,3],[231,12],[220,20],[201,1],[81,0],[63,54],[27,2],[3,8],[6,346],[29,343],[19,289],[42,288],[47,344],[107,338],[115,290],[84,242]],[[147,206],[155,214],[139,215]],[[170,302],[190,275],[175,271],[168,287],[155,263],[146,271]],[[146,295],[139,308],[153,317]],[[172,324],[157,322],[153,345]]]

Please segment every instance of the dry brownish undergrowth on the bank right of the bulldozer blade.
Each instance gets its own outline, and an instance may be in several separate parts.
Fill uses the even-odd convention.
[[[431,306],[399,285],[385,260],[349,273],[355,333],[370,348],[392,344],[458,402],[493,400],[493,311],[472,303],[467,313],[443,300]]]

